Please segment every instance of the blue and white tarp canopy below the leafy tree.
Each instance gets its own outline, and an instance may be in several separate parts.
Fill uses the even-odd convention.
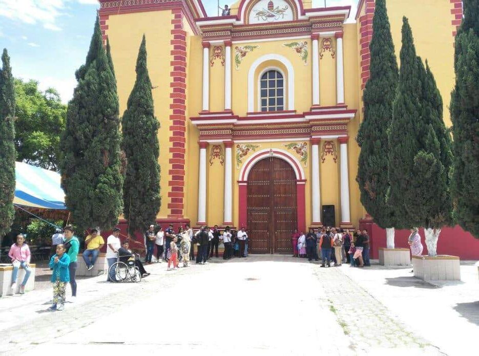
[[[23,162],[15,163],[14,204],[31,208],[67,209],[58,173]]]

